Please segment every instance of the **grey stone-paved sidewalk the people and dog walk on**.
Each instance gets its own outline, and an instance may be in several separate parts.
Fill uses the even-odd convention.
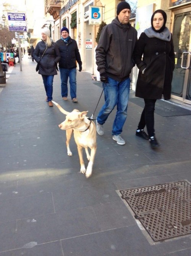
[[[129,102],[123,146],[112,139],[114,111],[104,135],[97,135],[93,174],[86,179],[74,139],[73,157],[67,155],[65,131],[58,128],[65,116],[45,102],[35,67],[24,56],[23,71],[16,63],[0,92],[0,256],[191,255],[191,235],[149,243],[117,193],[191,182],[191,115],[155,114],[161,147],[152,150],[135,136],[142,107]],[[78,103],[62,100],[60,74],[54,77],[53,100],[91,116],[102,88],[84,71],[77,71],[77,81]],[[95,117],[103,103],[104,96]]]

